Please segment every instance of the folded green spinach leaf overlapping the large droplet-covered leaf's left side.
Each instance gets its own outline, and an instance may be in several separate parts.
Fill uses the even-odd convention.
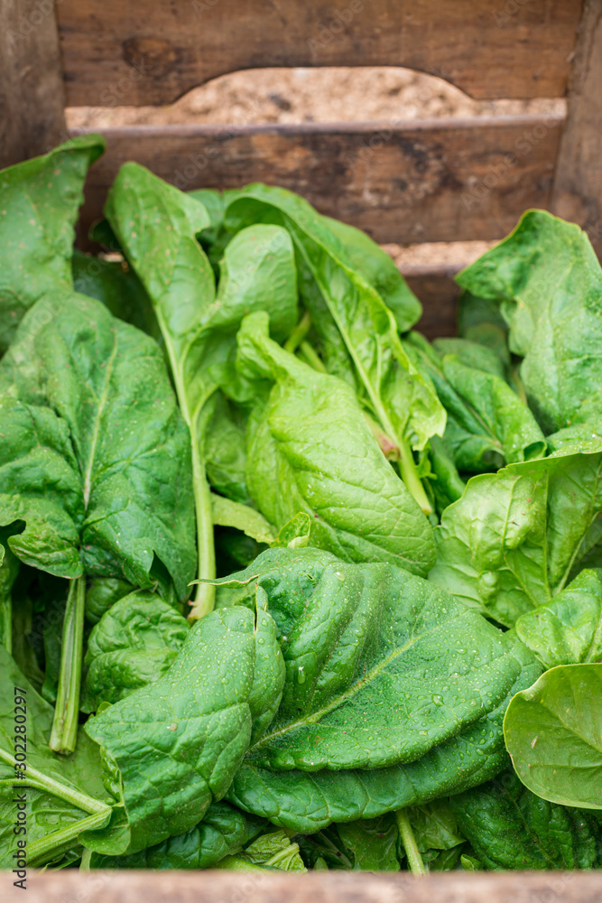
[[[222,609],[195,624],[167,674],[88,720],[121,773],[127,852],[190,831],[225,795],[282,676],[270,616],[258,610],[255,626],[252,611]]]

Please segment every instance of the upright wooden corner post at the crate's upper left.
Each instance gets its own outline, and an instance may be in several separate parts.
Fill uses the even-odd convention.
[[[0,169],[66,137],[52,0],[0,0]]]

